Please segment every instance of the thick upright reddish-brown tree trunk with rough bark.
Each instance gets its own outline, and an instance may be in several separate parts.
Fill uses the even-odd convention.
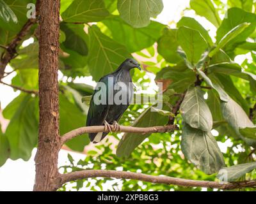
[[[54,191],[58,179],[58,52],[60,0],[40,0],[39,133],[34,191]]]

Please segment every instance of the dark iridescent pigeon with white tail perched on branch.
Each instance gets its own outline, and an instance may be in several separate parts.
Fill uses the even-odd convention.
[[[105,129],[109,131],[111,131],[109,124],[113,125],[115,130],[119,127],[117,122],[128,108],[133,96],[130,75],[132,68],[141,70],[140,64],[136,60],[126,59],[116,71],[100,78],[90,101],[86,126],[104,125]],[[120,100],[120,98],[122,99]],[[105,132],[89,133],[90,140],[93,143],[100,142],[107,135],[108,133]]]

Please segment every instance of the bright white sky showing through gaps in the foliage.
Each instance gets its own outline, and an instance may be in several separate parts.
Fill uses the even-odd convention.
[[[168,24],[170,27],[173,27],[173,24],[170,22],[178,22],[180,19],[180,13],[184,8],[189,6],[189,0],[163,0],[164,9],[162,13],[157,17],[157,21],[162,22],[163,24]],[[216,28],[210,22],[205,20],[202,17],[195,17],[194,11],[186,11],[184,15],[188,17],[194,17],[200,24],[204,25],[205,29],[209,30],[209,34],[214,37],[216,35]],[[241,64],[243,62],[244,56],[238,56],[235,61]],[[12,68],[8,67],[6,71],[12,71]],[[15,73],[12,73],[10,76],[4,78],[4,82],[11,84],[12,78],[15,76]],[[95,85],[95,82],[92,82],[92,78],[86,77],[79,78],[75,82],[83,83],[86,80],[90,84]],[[4,109],[13,98],[19,95],[19,91],[14,92],[11,87],[0,84],[0,102],[1,108]],[[217,132],[218,133],[218,132]],[[213,132],[214,134],[214,132]],[[216,134],[216,133],[215,133]],[[227,146],[230,145],[228,140],[225,143],[218,143],[222,152],[225,152]],[[12,161],[8,159],[6,164],[0,168],[0,191],[32,191],[34,179],[35,179],[35,157],[36,149],[33,150],[31,159],[28,162],[22,161],[19,159],[17,161]],[[68,152],[67,150],[61,150],[59,154],[59,166],[67,164],[67,154],[70,153],[76,161],[83,159],[83,154],[78,154],[75,152]]]

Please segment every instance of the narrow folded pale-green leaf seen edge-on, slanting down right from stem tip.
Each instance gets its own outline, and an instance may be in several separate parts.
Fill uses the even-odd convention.
[[[218,81],[214,78],[209,78],[207,75],[205,75],[204,71],[201,71],[199,69],[196,69],[196,71],[199,73],[199,75],[204,78],[205,82],[212,87],[212,89],[215,89],[222,101],[228,101],[228,94],[223,90],[220,84],[218,84]]]

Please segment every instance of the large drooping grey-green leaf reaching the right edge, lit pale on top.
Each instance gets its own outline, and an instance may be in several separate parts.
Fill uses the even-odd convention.
[[[244,136],[239,133],[239,128],[255,127],[248,115],[244,112],[243,108],[241,108],[236,101],[229,98],[227,103],[221,102],[221,112],[224,119],[236,131],[237,135],[239,135],[239,137],[248,145],[256,147],[256,140],[244,138]]]

